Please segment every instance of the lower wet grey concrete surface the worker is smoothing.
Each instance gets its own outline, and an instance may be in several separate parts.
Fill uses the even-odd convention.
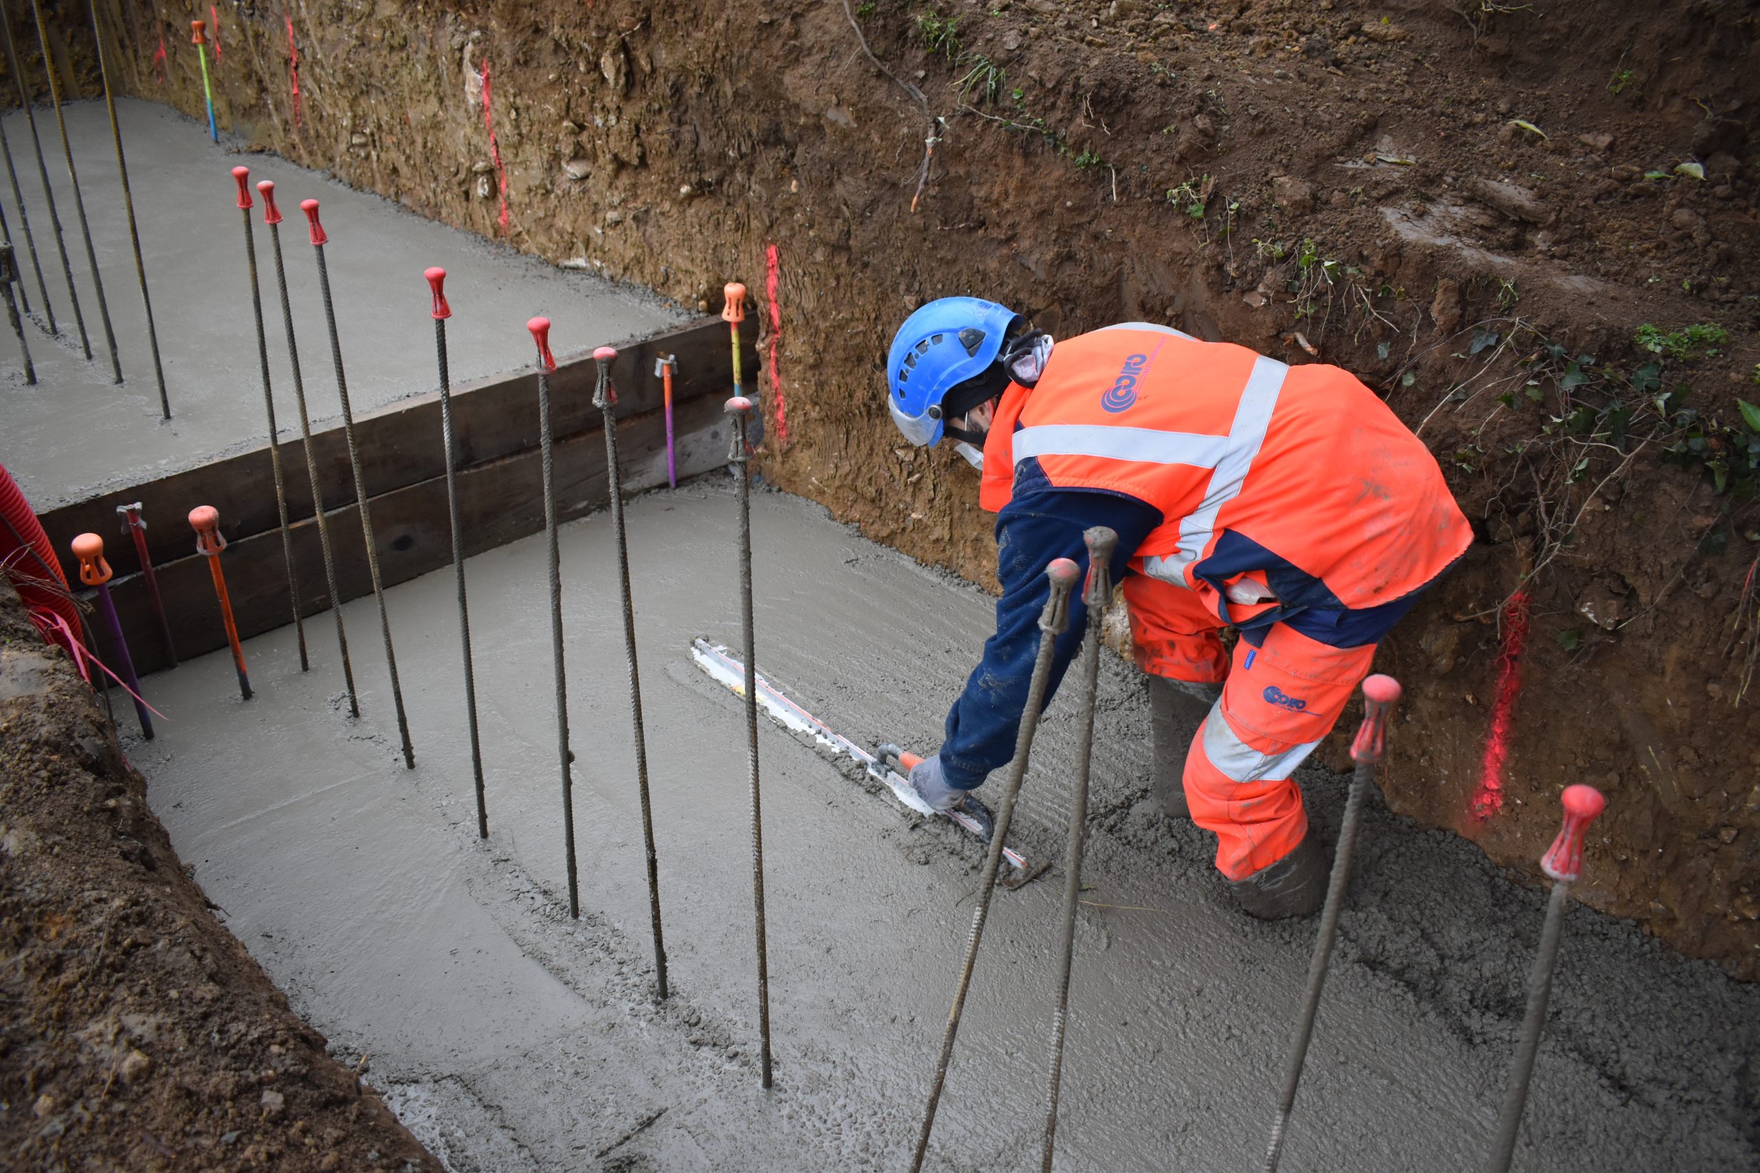
[[[857,740],[929,749],[991,600],[781,494],[755,499],[759,661]],[[972,916],[979,855],[766,726],[776,1087],[759,1089],[743,716],[690,663],[737,644],[720,475],[630,506],[672,999],[653,974],[614,549],[563,531],[583,916],[567,914],[542,536],[468,565],[491,837],[475,811],[449,572],[389,593],[417,753],[401,767],[371,600],[345,608],[363,719],[308,626],[146,681],[128,753],[227,923],[451,1168],[905,1168]],[[1065,1169],[1257,1168],[1315,922],[1232,911],[1213,841],[1148,800],[1148,705],[1105,658],[1086,904],[1058,1133]],[[1035,747],[1019,846],[1061,855],[1072,691]],[[1394,737],[1422,730],[1396,726]],[[1334,834],[1341,781],[1304,772]],[[1589,878],[1593,883],[1593,876]],[[1037,1161],[1052,871],[1000,892],[931,1168]],[[1544,893],[1378,798],[1283,1168],[1477,1169]],[[1755,1168],[1760,988],[1577,907],[1521,1169]]]

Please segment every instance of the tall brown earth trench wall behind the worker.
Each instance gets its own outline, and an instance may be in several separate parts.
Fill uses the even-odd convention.
[[[114,11],[132,90],[202,116],[185,12]],[[218,116],[252,148],[702,310],[737,278],[762,313],[774,244],[766,473],[977,580],[975,477],[880,404],[919,301],[1359,373],[1480,535],[1387,644],[1410,696],[1389,798],[1533,872],[1559,788],[1593,783],[1584,899],[1760,978],[1760,417],[1737,412],[1760,397],[1756,5],[304,0],[297,127],[283,9],[222,25]],[[69,62],[84,37],[70,16]],[[1531,633],[1482,818],[1517,587]]]

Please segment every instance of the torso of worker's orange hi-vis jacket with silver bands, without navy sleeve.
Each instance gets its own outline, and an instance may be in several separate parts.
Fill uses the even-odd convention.
[[[1146,322],[1060,341],[1031,390],[1007,389],[982,506],[1017,475],[1160,510],[1132,570],[1243,630],[1390,603],[1473,538],[1436,459],[1348,371]]]

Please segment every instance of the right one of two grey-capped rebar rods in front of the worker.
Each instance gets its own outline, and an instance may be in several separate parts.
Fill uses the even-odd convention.
[[[1051,1016],[1051,1076],[1045,1097],[1045,1134],[1040,1145],[1038,1168],[1051,1173],[1051,1155],[1058,1136],[1058,1096],[1063,1089],[1063,1032],[1070,1009],[1070,967],[1075,958],[1075,911],[1082,890],[1082,848],[1088,839],[1088,777],[1093,767],[1095,700],[1100,684],[1100,631],[1105,607],[1112,598],[1112,549],[1118,535],[1105,526],[1095,526],[1082,535],[1088,543],[1088,631],[1082,638],[1081,723],[1075,740],[1075,784],[1070,797],[1070,842],[1063,856],[1063,918],[1058,936],[1058,1008]]]

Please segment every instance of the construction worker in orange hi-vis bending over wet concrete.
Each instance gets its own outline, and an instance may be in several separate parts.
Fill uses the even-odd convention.
[[[1473,536],[1424,443],[1336,366],[1146,322],[1054,341],[975,297],[912,313],[887,383],[906,440],[950,436],[982,470],[1001,582],[996,635],[910,772],[917,793],[987,820],[970,791],[1014,753],[1045,563],[1084,563],[1082,531],[1109,526],[1149,674],[1156,798],[1216,834],[1243,909],[1316,909],[1329,858],[1290,776]],[[1070,607],[1052,689],[1082,637]]]

